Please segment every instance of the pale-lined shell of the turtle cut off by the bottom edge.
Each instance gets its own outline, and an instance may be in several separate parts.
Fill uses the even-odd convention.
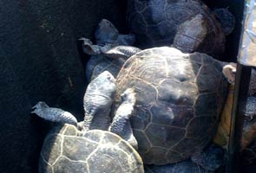
[[[74,125],[57,126],[45,138],[39,172],[134,172],[143,163],[135,149],[109,131],[77,131]]]

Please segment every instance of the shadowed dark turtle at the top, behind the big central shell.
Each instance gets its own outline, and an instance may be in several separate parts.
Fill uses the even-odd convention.
[[[128,0],[128,26],[139,48],[173,44],[182,52],[221,59],[235,18],[228,9],[209,10],[200,0]]]

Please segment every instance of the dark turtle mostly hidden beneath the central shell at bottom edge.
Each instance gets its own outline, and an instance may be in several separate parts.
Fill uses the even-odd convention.
[[[216,144],[210,144],[204,151],[180,163],[166,165],[145,165],[146,173],[213,173],[225,163],[225,151]]]

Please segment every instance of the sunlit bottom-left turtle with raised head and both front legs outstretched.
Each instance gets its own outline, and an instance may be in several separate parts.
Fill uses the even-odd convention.
[[[44,102],[34,106],[33,113],[59,124],[44,140],[39,172],[144,172],[128,121],[136,100],[133,89],[122,94],[122,104],[108,125],[115,89],[108,71],[92,80],[84,95],[85,117],[79,123],[71,113]]]

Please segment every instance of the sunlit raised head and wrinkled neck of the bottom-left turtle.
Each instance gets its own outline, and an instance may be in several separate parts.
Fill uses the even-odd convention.
[[[115,78],[108,72],[99,74],[87,87],[83,98],[85,131],[108,130],[109,112],[115,97]]]

